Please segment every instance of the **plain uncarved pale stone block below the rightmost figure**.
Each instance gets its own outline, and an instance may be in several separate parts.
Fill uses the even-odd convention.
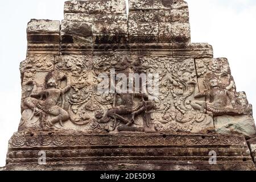
[[[253,138],[256,135],[254,119],[249,115],[214,117],[214,127],[219,134],[242,134],[246,138]]]

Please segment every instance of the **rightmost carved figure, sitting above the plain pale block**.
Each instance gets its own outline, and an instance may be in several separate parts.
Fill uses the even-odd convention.
[[[218,78],[212,74],[205,78],[205,82],[209,85],[209,89],[196,94],[195,98],[205,97],[205,101],[195,100],[191,102],[191,106],[202,113],[212,113],[213,115],[222,114],[243,114],[242,109],[234,108],[234,97],[232,92],[226,88],[221,88]],[[229,106],[231,101],[232,106]]]

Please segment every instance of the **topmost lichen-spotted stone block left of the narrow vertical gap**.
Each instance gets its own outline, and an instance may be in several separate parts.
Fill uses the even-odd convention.
[[[125,0],[67,1],[64,13],[125,14],[126,3]]]

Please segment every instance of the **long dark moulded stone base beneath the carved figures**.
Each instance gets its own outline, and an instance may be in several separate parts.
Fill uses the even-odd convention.
[[[51,150],[46,149],[47,164],[37,165],[37,155],[42,147]],[[10,139],[9,148],[7,169],[28,170],[28,167],[33,167],[35,170],[255,169],[247,152],[249,148],[246,140],[238,135],[181,133],[88,135],[75,132],[71,134],[69,131],[40,134],[31,131],[15,133]],[[23,148],[27,148],[26,151]],[[210,151],[216,151],[218,154],[216,165],[209,164]],[[61,167],[56,165],[60,161]]]

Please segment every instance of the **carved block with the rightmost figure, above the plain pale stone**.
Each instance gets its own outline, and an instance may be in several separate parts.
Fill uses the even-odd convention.
[[[196,98],[205,97],[205,101],[194,101],[195,109],[216,116],[251,115],[251,105],[245,93],[236,91],[227,59],[199,59],[196,68],[200,90]]]

